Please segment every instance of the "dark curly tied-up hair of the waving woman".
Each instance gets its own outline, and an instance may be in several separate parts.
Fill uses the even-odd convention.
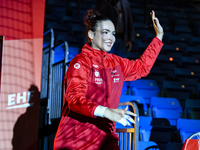
[[[89,9],[87,11],[87,15],[85,16],[84,23],[85,23],[86,28],[87,28],[86,36],[87,36],[89,42],[90,42],[90,39],[89,39],[88,34],[87,34],[88,31],[91,30],[91,31],[94,32],[97,28],[97,24],[100,21],[106,21],[106,20],[110,20],[110,19],[101,15],[98,11],[96,11],[94,9]]]

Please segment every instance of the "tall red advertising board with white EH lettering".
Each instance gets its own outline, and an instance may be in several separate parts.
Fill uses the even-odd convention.
[[[37,149],[44,7],[0,1],[0,150]]]

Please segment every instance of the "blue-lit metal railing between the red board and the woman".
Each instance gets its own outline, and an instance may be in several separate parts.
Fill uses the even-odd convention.
[[[67,71],[68,64],[68,43],[54,46],[54,30],[51,28],[43,34],[43,55],[42,55],[42,77],[40,100],[47,101],[47,124],[51,124],[53,119],[60,119],[61,107],[63,104],[63,79]],[[55,62],[55,50],[62,47],[64,57]]]

